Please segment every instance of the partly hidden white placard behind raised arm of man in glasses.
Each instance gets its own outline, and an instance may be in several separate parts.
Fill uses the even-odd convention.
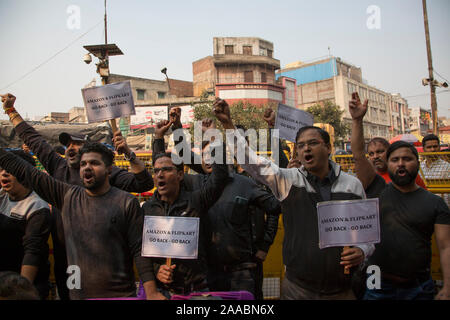
[[[278,104],[275,129],[280,131],[280,138],[296,142],[295,137],[298,129],[312,126],[314,117],[312,114],[300,109],[292,108],[284,104]]]

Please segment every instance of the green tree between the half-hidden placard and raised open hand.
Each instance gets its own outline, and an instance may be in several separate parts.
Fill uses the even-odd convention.
[[[315,104],[306,111],[314,116],[314,123],[329,123],[334,128],[336,143],[345,140],[350,133],[350,128],[342,121],[344,111],[331,101],[326,101],[323,105]]]

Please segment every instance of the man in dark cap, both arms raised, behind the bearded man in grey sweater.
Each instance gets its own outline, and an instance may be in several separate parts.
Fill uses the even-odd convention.
[[[66,146],[65,158],[62,158],[42,136],[28,123],[26,123],[14,108],[16,97],[12,94],[2,96],[3,109],[10,117],[10,121],[24,143],[37,156],[49,175],[57,180],[82,186],[80,178],[80,154],[79,150],[86,140],[84,137],[61,133],[59,140]],[[136,158],[136,155],[126,145],[120,132],[114,134],[116,150],[124,153],[125,158],[130,161],[130,171],[112,166],[109,176],[111,185],[128,192],[145,192],[153,188],[151,175],[145,169],[144,163]],[[58,293],[61,299],[68,299],[67,280],[67,257],[64,244],[64,230],[61,213],[58,209],[52,210],[53,253],[55,258],[55,278]]]

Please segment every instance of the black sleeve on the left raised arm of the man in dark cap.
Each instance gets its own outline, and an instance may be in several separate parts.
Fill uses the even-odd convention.
[[[56,168],[65,165],[66,160],[53,150],[52,146],[28,123],[25,121],[19,123],[15,130],[50,175],[54,174]]]

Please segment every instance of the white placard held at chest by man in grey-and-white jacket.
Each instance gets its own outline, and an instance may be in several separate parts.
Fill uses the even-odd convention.
[[[378,198],[320,202],[317,217],[320,249],[380,242]]]

